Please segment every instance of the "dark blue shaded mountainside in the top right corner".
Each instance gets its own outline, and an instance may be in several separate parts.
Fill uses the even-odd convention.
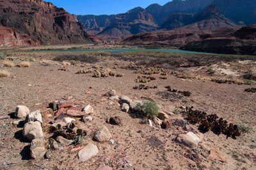
[[[219,8],[225,17],[235,23],[256,24],[255,0],[215,0],[212,4]]]

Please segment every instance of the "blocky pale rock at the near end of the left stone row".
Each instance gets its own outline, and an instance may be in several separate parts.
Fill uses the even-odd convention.
[[[33,139],[30,144],[30,156],[33,159],[44,157],[46,151],[44,148],[44,139]]]

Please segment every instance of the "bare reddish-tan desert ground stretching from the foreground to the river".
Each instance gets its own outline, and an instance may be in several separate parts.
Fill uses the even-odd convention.
[[[180,66],[173,66],[164,62],[150,65],[153,60],[145,57],[147,54],[144,53],[136,56],[133,53],[111,55],[108,52],[47,50],[109,47],[118,48],[118,45],[26,47],[0,51],[6,55],[0,59],[0,70],[10,73],[7,77],[0,77],[1,169],[256,169],[256,93],[244,91],[255,88],[255,79],[248,80],[244,77],[248,72],[253,77],[256,59],[242,57],[215,63],[204,61],[205,64],[191,66],[184,66],[188,64],[184,60]],[[88,62],[68,59],[62,61],[61,56],[67,55],[87,55],[92,58]],[[148,54],[150,55],[152,54]],[[185,58],[184,55],[182,57]],[[139,61],[140,58],[145,61]],[[30,65],[22,66],[24,61],[28,61]],[[13,66],[4,66],[6,62],[13,63]],[[138,69],[146,69],[147,66],[169,71],[166,71],[166,75],[134,73]],[[92,69],[92,72],[76,73],[85,68]],[[93,77],[95,70],[115,71],[124,75]],[[155,80],[137,82],[138,76],[150,76]],[[218,83],[212,81],[214,79],[230,81]],[[140,84],[148,88],[134,89]],[[154,86],[157,88],[150,88]],[[190,91],[191,95],[188,97],[167,91],[166,86],[177,91]],[[148,118],[140,112],[122,111],[118,99],[104,96],[111,89],[119,97],[125,95],[131,100],[153,101],[160,107],[159,111],[168,114],[164,121],[169,121],[171,127],[161,128],[154,123],[150,127]],[[30,112],[45,109],[52,101],[81,108],[91,105],[92,121],[84,123],[81,118],[74,118],[76,127],[86,130],[83,141],[68,146],[59,143],[58,150],[51,150],[48,141],[53,134],[49,127],[51,121],[54,121],[55,112],[52,112],[52,116],[43,115],[44,146],[50,156],[32,159],[29,153],[30,141],[22,135],[23,126],[13,124],[13,121],[18,120],[13,118],[13,112],[17,105],[28,107]],[[228,124],[237,125],[241,135],[227,137],[225,134],[217,135],[212,130],[202,132],[198,129],[199,123],[192,123],[186,116],[185,108],[191,106],[194,110],[216,114],[227,120]],[[3,118],[6,115],[8,116]],[[119,125],[107,123],[106,120],[115,116],[121,120]],[[186,123],[186,128],[178,122]],[[114,144],[93,139],[95,131],[102,126],[108,128]],[[175,141],[178,135],[188,131],[194,132],[200,139],[195,150]],[[148,142],[150,137],[156,137],[162,143],[152,145]],[[79,150],[73,149],[84,148],[88,144],[95,144],[99,152],[89,160],[81,162],[77,155]]]

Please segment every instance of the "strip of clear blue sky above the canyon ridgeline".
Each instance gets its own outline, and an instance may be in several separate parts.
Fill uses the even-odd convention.
[[[44,0],[47,1],[47,0]],[[160,4],[163,6],[172,0],[48,0],[58,8],[64,8],[67,12],[77,15],[111,15],[118,13],[125,13],[132,8],[140,6],[141,8],[147,8],[150,4]]]

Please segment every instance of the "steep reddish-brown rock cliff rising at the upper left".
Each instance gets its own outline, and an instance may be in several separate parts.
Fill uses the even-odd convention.
[[[42,0],[0,0],[0,25],[42,44],[99,41],[70,13]]]

